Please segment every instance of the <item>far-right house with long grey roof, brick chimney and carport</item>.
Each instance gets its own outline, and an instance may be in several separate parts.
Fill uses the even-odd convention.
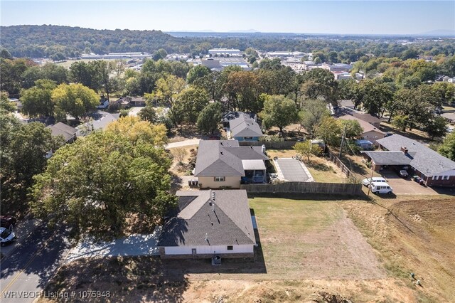
[[[377,143],[381,149],[405,154],[403,160],[411,159],[410,166],[427,186],[455,185],[455,162],[438,154],[437,151],[400,134],[379,139]],[[397,161],[397,154],[391,154],[390,157]],[[407,165],[406,161],[400,165]]]

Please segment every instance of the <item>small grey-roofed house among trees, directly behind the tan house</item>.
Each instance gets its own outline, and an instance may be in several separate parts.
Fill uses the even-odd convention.
[[[264,136],[256,119],[245,112],[226,115],[224,125],[228,125],[228,137],[238,141],[259,141],[259,137]]]

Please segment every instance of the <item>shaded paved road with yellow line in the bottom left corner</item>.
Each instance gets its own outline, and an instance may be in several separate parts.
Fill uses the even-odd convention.
[[[1,261],[0,301],[33,302],[57,269],[66,248],[63,228],[36,228]]]

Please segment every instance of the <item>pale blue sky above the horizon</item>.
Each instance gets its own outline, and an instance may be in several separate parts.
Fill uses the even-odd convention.
[[[1,25],[293,33],[455,30],[455,1],[1,1]]]

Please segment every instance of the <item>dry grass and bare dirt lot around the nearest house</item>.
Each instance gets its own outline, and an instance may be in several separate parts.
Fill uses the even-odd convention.
[[[250,208],[255,260],[78,260],[47,290],[110,291],[95,302],[455,301],[451,196],[251,197]]]

